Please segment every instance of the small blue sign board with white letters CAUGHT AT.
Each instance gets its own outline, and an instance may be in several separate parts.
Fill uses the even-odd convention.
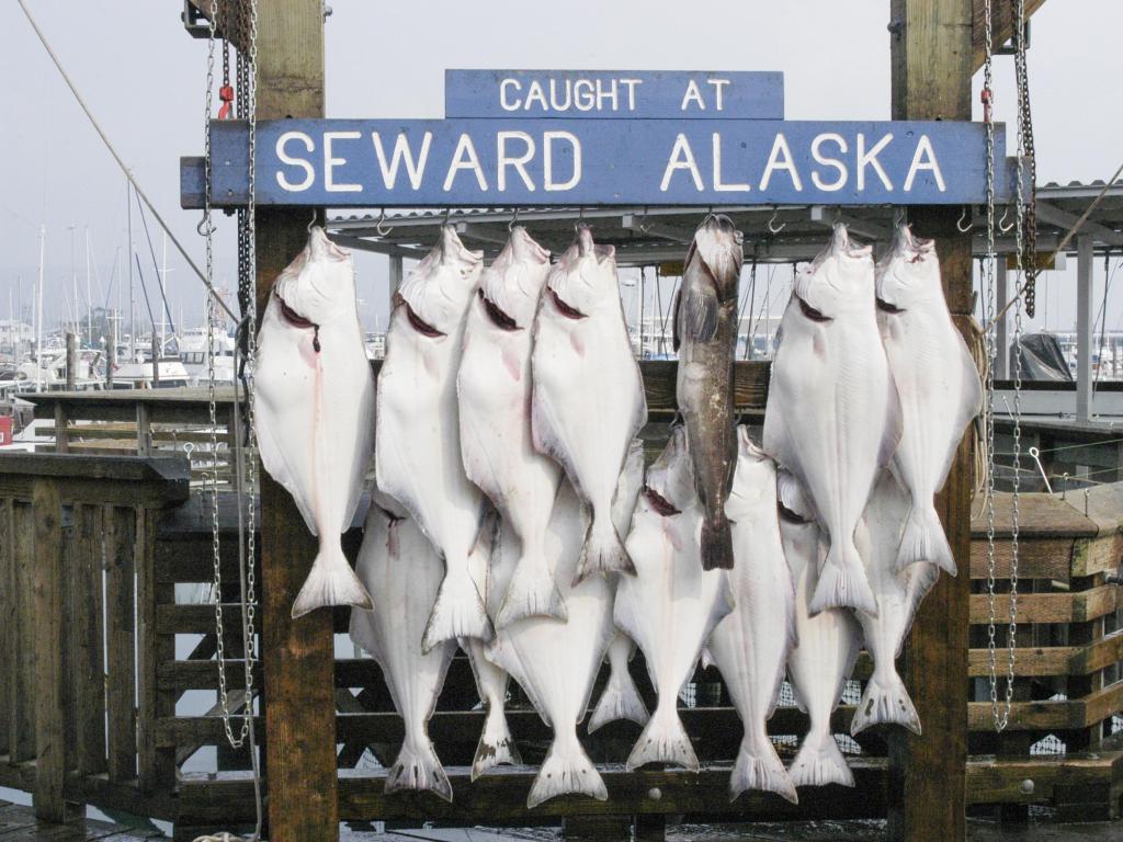
[[[445,117],[783,120],[784,74],[449,70]]]

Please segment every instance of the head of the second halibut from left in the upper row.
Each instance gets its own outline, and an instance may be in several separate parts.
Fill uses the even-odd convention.
[[[402,282],[394,308],[404,308],[410,327],[439,340],[454,333],[475,293],[483,253],[467,248],[453,226],[442,226],[440,241]]]

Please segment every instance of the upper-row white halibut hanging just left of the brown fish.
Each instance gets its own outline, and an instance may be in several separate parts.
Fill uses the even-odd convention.
[[[647,400],[614,255],[612,246],[593,245],[581,226],[549,274],[535,321],[535,447],[562,464],[592,515],[576,582],[591,573],[634,571],[611,509],[628,448],[647,422]]]

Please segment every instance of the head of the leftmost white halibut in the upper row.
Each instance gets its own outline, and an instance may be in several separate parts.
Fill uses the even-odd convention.
[[[296,318],[317,326],[355,320],[355,265],[350,251],[330,239],[319,226],[308,244],[282,269],[273,293]]]

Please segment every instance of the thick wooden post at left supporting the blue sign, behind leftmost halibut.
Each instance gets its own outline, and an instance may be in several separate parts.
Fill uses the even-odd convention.
[[[258,3],[257,117],[323,116],[323,4]],[[257,211],[257,309],[277,274],[304,247],[311,209]],[[296,506],[261,472],[262,659],[265,671],[268,838],[339,839],[334,646],[330,611],[290,612],[316,557]]]

